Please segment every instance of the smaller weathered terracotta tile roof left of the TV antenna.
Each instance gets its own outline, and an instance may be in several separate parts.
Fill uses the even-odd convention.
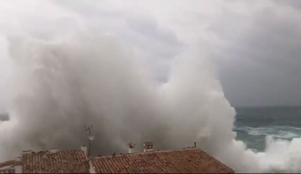
[[[23,173],[88,173],[88,162],[83,151],[58,151],[23,154]]]

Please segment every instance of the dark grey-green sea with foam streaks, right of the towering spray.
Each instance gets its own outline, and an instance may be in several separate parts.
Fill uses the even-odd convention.
[[[301,107],[237,107],[235,110],[236,139],[254,151],[264,151],[266,136],[289,141],[301,137]]]

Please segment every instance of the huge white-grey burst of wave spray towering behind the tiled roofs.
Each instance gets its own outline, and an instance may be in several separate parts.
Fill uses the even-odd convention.
[[[83,125],[92,123],[94,156],[126,153],[130,141],[136,151],[145,141],[159,150],[196,141],[236,172],[301,172],[301,139],[268,137],[261,153],[235,140],[235,109],[202,44],[191,43],[161,84],[119,37],[94,30],[58,35],[7,37],[13,70],[10,120],[0,123],[1,161],[28,149],[78,149],[88,142]]]

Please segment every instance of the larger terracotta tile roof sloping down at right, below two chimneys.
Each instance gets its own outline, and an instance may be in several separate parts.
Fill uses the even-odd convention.
[[[234,173],[199,148],[90,157],[96,173]]]

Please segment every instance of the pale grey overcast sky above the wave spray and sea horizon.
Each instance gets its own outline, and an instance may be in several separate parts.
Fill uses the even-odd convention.
[[[11,71],[6,36],[49,41],[95,30],[132,48],[160,82],[198,42],[233,106],[300,105],[301,1],[0,1],[0,110]],[[3,97],[2,97],[3,96]]]

